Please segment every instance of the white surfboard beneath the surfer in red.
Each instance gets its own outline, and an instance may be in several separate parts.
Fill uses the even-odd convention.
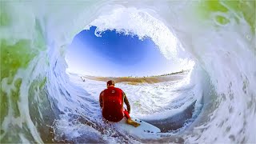
[[[161,132],[161,130],[151,125],[150,123],[143,122],[142,120],[139,120],[138,118],[132,118],[135,122],[138,122],[141,124],[138,127],[131,126],[126,123],[126,118],[122,118],[120,122],[115,122],[113,124],[114,128],[121,130],[122,132],[139,139],[154,139],[154,138],[160,138],[160,136],[157,134]]]

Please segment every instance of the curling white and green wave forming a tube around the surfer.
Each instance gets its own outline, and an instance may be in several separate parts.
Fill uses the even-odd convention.
[[[90,26],[98,36],[151,38],[166,58],[195,62],[185,80],[155,86],[177,98],[144,89],[158,98],[152,107],[167,102],[170,111],[146,112],[144,100],[156,99],[145,94],[144,112],[132,104],[134,115],[161,122],[195,102],[192,122],[154,141],[256,142],[255,1],[1,2],[0,10],[1,142],[144,142],[102,122],[90,91],[105,84],[82,87],[66,74],[66,49]]]

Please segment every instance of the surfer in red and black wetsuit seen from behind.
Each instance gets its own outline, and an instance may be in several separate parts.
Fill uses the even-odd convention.
[[[119,122],[125,116],[126,123],[137,127],[138,122],[134,122],[130,118],[130,103],[126,94],[119,88],[114,87],[114,81],[106,82],[107,89],[102,90],[99,95],[99,103],[102,108],[102,116],[110,122]],[[126,103],[127,110],[123,107],[123,102]]]

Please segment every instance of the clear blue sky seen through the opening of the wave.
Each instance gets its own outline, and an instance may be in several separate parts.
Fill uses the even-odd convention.
[[[167,60],[150,38],[118,34],[106,30],[97,37],[96,27],[82,30],[66,52],[68,71],[94,76],[150,76],[173,72]]]

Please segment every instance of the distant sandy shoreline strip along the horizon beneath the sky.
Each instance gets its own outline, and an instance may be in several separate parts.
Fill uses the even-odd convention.
[[[153,75],[153,76],[146,76],[146,77],[97,77],[97,76],[82,76],[82,81],[85,82],[86,79],[95,80],[95,81],[102,81],[107,82],[109,80],[113,80],[115,83],[118,82],[126,82],[129,85],[138,85],[142,83],[158,83],[158,82],[169,82],[182,79],[186,76],[186,73],[189,70],[182,70],[170,74],[161,74],[161,75]],[[176,75],[182,74],[182,75]]]

